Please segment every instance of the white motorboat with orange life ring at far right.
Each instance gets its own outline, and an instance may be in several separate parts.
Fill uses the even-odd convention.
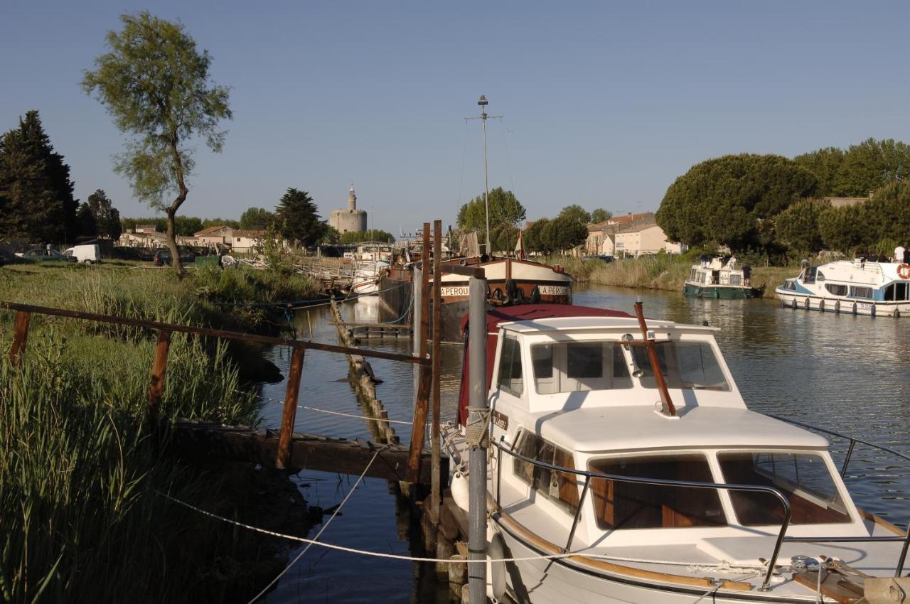
[[[910,265],[836,260],[804,266],[774,289],[781,306],[823,312],[901,317],[910,314]]]

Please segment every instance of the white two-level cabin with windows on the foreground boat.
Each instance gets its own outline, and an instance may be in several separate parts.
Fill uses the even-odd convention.
[[[677,544],[737,563],[771,552],[784,520],[772,493],[619,479],[651,478],[773,487],[792,508],[788,535],[832,525],[869,535],[827,440],[746,408],[714,328],[647,320],[647,329],[674,416],[661,411],[635,317],[541,305],[489,314],[492,437],[507,450],[491,449],[489,488],[504,513],[571,549]],[[465,386],[461,395],[464,423]],[[741,551],[743,536],[770,541]]]

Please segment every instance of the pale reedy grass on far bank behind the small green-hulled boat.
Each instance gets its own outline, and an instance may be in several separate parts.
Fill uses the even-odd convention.
[[[546,257],[543,261],[565,267],[566,272],[581,283],[682,292],[682,285],[689,277],[695,259],[689,255],[670,257],[659,254],[609,263],[599,259],[559,256]],[[760,290],[763,297],[773,298],[774,287],[797,273],[799,267],[753,267],[752,286]]]

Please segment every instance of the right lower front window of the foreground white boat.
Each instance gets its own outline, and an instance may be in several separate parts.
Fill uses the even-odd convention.
[[[779,489],[793,509],[791,524],[849,522],[834,478],[819,455],[806,453],[733,452],[717,456],[726,482]],[[779,525],[784,508],[770,493],[730,491],[743,526]]]

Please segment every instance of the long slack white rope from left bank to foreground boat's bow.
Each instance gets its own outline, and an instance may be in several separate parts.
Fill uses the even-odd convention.
[[[381,450],[381,449],[379,449],[379,450]],[[377,451],[377,453],[379,453],[379,451]],[[375,458],[375,455],[374,455],[374,458]],[[337,545],[334,543],[326,543],[325,541],[318,541],[316,539],[307,539],[305,537],[287,535],[285,533],[279,533],[274,530],[268,530],[268,528],[258,528],[258,527],[254,527],[249,524],[245,524],[243,522],[239,522],[238,520],[234,520],[231,518],[225,518],[223,516],[218,516],[217,514],[213,514],[212,512],[209,512],[205,509],[197,508],[196,506],[194,506],[190,503],[187,503],[186,501],[181,501],[180,499],[171,497],[170,495],[167,495],[167,493],[163,493],[161,491],[157,491],[157,493],[167,499],[170,499],[174,503],[184,506],[185,508],[192,509],[193,511],[196,511],[196,512],[202,514],[203,516],[207,516],[209,518],[215,518],[216,520],[221,520],[222,522],[227,522],[228,524],[232,524],[232,525],[240,527],[240,528],[248,528],[249,530],[252,530],[252,531],[255,531],[258,533],[263,533],[265,535],[271,535],[272,537],[279,537],[281,539],[288,539],[290,541],[298,541],[299,543],[308,543],[310,545],[318,545],[322,548],[333,549],[335,551],[343,551],[343,552],[347,552],[349,554],[359,554],[360,556],[369,556],[371,558],[403,560],[406,562],[451,562],[451,563],[456,563],[456,564],[470,564],[470,563],[476,564],[477,563],[477,561],[475,561],[475,560],[468,560],[468,559],[462,560],[462,559],[449,559],[449,558],[418,558],[415,556],[404,556],[402,554],[386,554],[386,553],[379,552],[379,551],[370,551],[368,549],[349,548],[349,547]],[[319,537],[319,535],[317,535],[317,537]],[[721,572],[723,572],[723,569],[725,569],[725,568],[733,568],[730,566],[730,563],[727,561],[722,561],[718,564],[704,564],[701,562],[691,562],[691,561],[686,562],[686,561],[680,561],[680,560],[652,560],[652,559],[640,559],[640,558],[624,558],[622,556],[611,556],[608,554],[585,553],[585,551],[581,550],[581,549],[576,549],[574,551],[569,551],[569,552],[566,552],[563,554],[546,554],[543,556],[528,556],[528,557],[524,557],[524,558],[496,558],[496,559],[488,559],[487,561],[488,562],[531,562],[534,560],[566,559],[566,558],[573,558],[575,556],[584,556],[586,558],[593,558],[593,559],[613,560],[613,561],[617,561],[617,562],[637,562],[637,563],[641,563],[641,564],[659,564],[659,565],[684,566],[684,567],[701,566],[704,568],[720,569]],[[753,569],[761,570],[763,568],[756,566]]]

